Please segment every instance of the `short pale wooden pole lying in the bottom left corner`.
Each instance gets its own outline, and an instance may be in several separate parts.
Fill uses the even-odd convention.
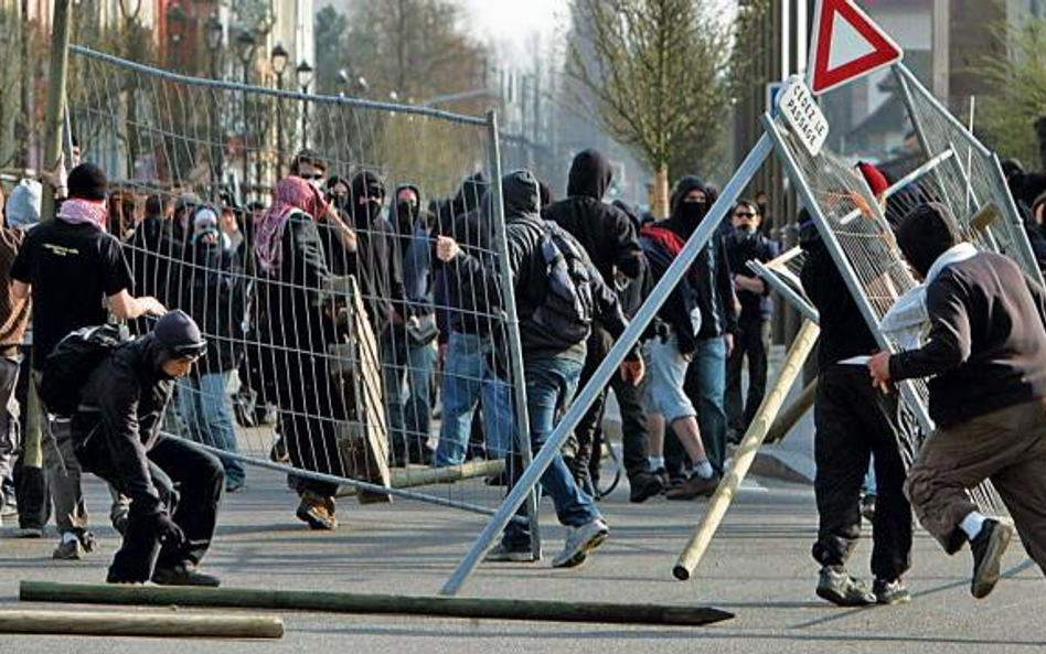
[[[100,611],[0,611],[0,633],[281,639],[279,618]]]

